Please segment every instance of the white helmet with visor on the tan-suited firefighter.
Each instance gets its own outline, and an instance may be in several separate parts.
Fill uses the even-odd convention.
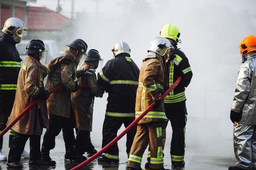
[[[166,52],[169,53],[171,49],[174,49],[174,47],[167,38],[156,37],[153,40],[151,40],[148,52],[152,51],[161,56],[164,56]]]

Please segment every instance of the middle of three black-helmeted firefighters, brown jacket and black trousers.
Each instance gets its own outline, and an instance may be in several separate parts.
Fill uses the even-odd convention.
[[[49,151],[55,147],[55,137],[63,132],[65,142],[65,159],[83,161],[84,156],[74,154],[74,128],[75,120],[71,112],[71,92],[78,90],[76,77],[76,67],[79,64],[79,58],[86,53],[87,44],[77,39],[67,44],[63,54],[57,59],[54,70],[48,75],[45,89],[50,91],[55,88],[64,87],[64,90],[54,92],[47,99],[47,110],[49,114],[49,129],[46,130],[41,148],[41,159],[46,162],[56,164],[49,156]]]

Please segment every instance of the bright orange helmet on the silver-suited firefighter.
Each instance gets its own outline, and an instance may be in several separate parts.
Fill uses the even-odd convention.
[[[254,35],[248,35],[240,42],[238,47],[243,55],[251,51],[256,51],[256,37]]]

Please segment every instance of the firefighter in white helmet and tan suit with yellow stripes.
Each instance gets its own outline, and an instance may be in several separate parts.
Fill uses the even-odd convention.
[[[137,124],[127,164],[129,170],[141,170],[142,156],[149,143],[150,170],[164,170],[163,150],[168,119],[164,112],[164,101],[160,97],[164,91],[164,64],[168,62],[168,54],[172,49],[173,45],[166,38],[154,38],[141,65],[135,117],[139,117],[152,102],[154,107]]]

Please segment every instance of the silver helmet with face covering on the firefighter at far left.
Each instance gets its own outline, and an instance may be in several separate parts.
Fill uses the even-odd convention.
[[[12,17],[5,21],[2,32],[10,37],[14,37],[16,33],[22,35],[24,30],[27,30],[26,24],[19,18]]]

